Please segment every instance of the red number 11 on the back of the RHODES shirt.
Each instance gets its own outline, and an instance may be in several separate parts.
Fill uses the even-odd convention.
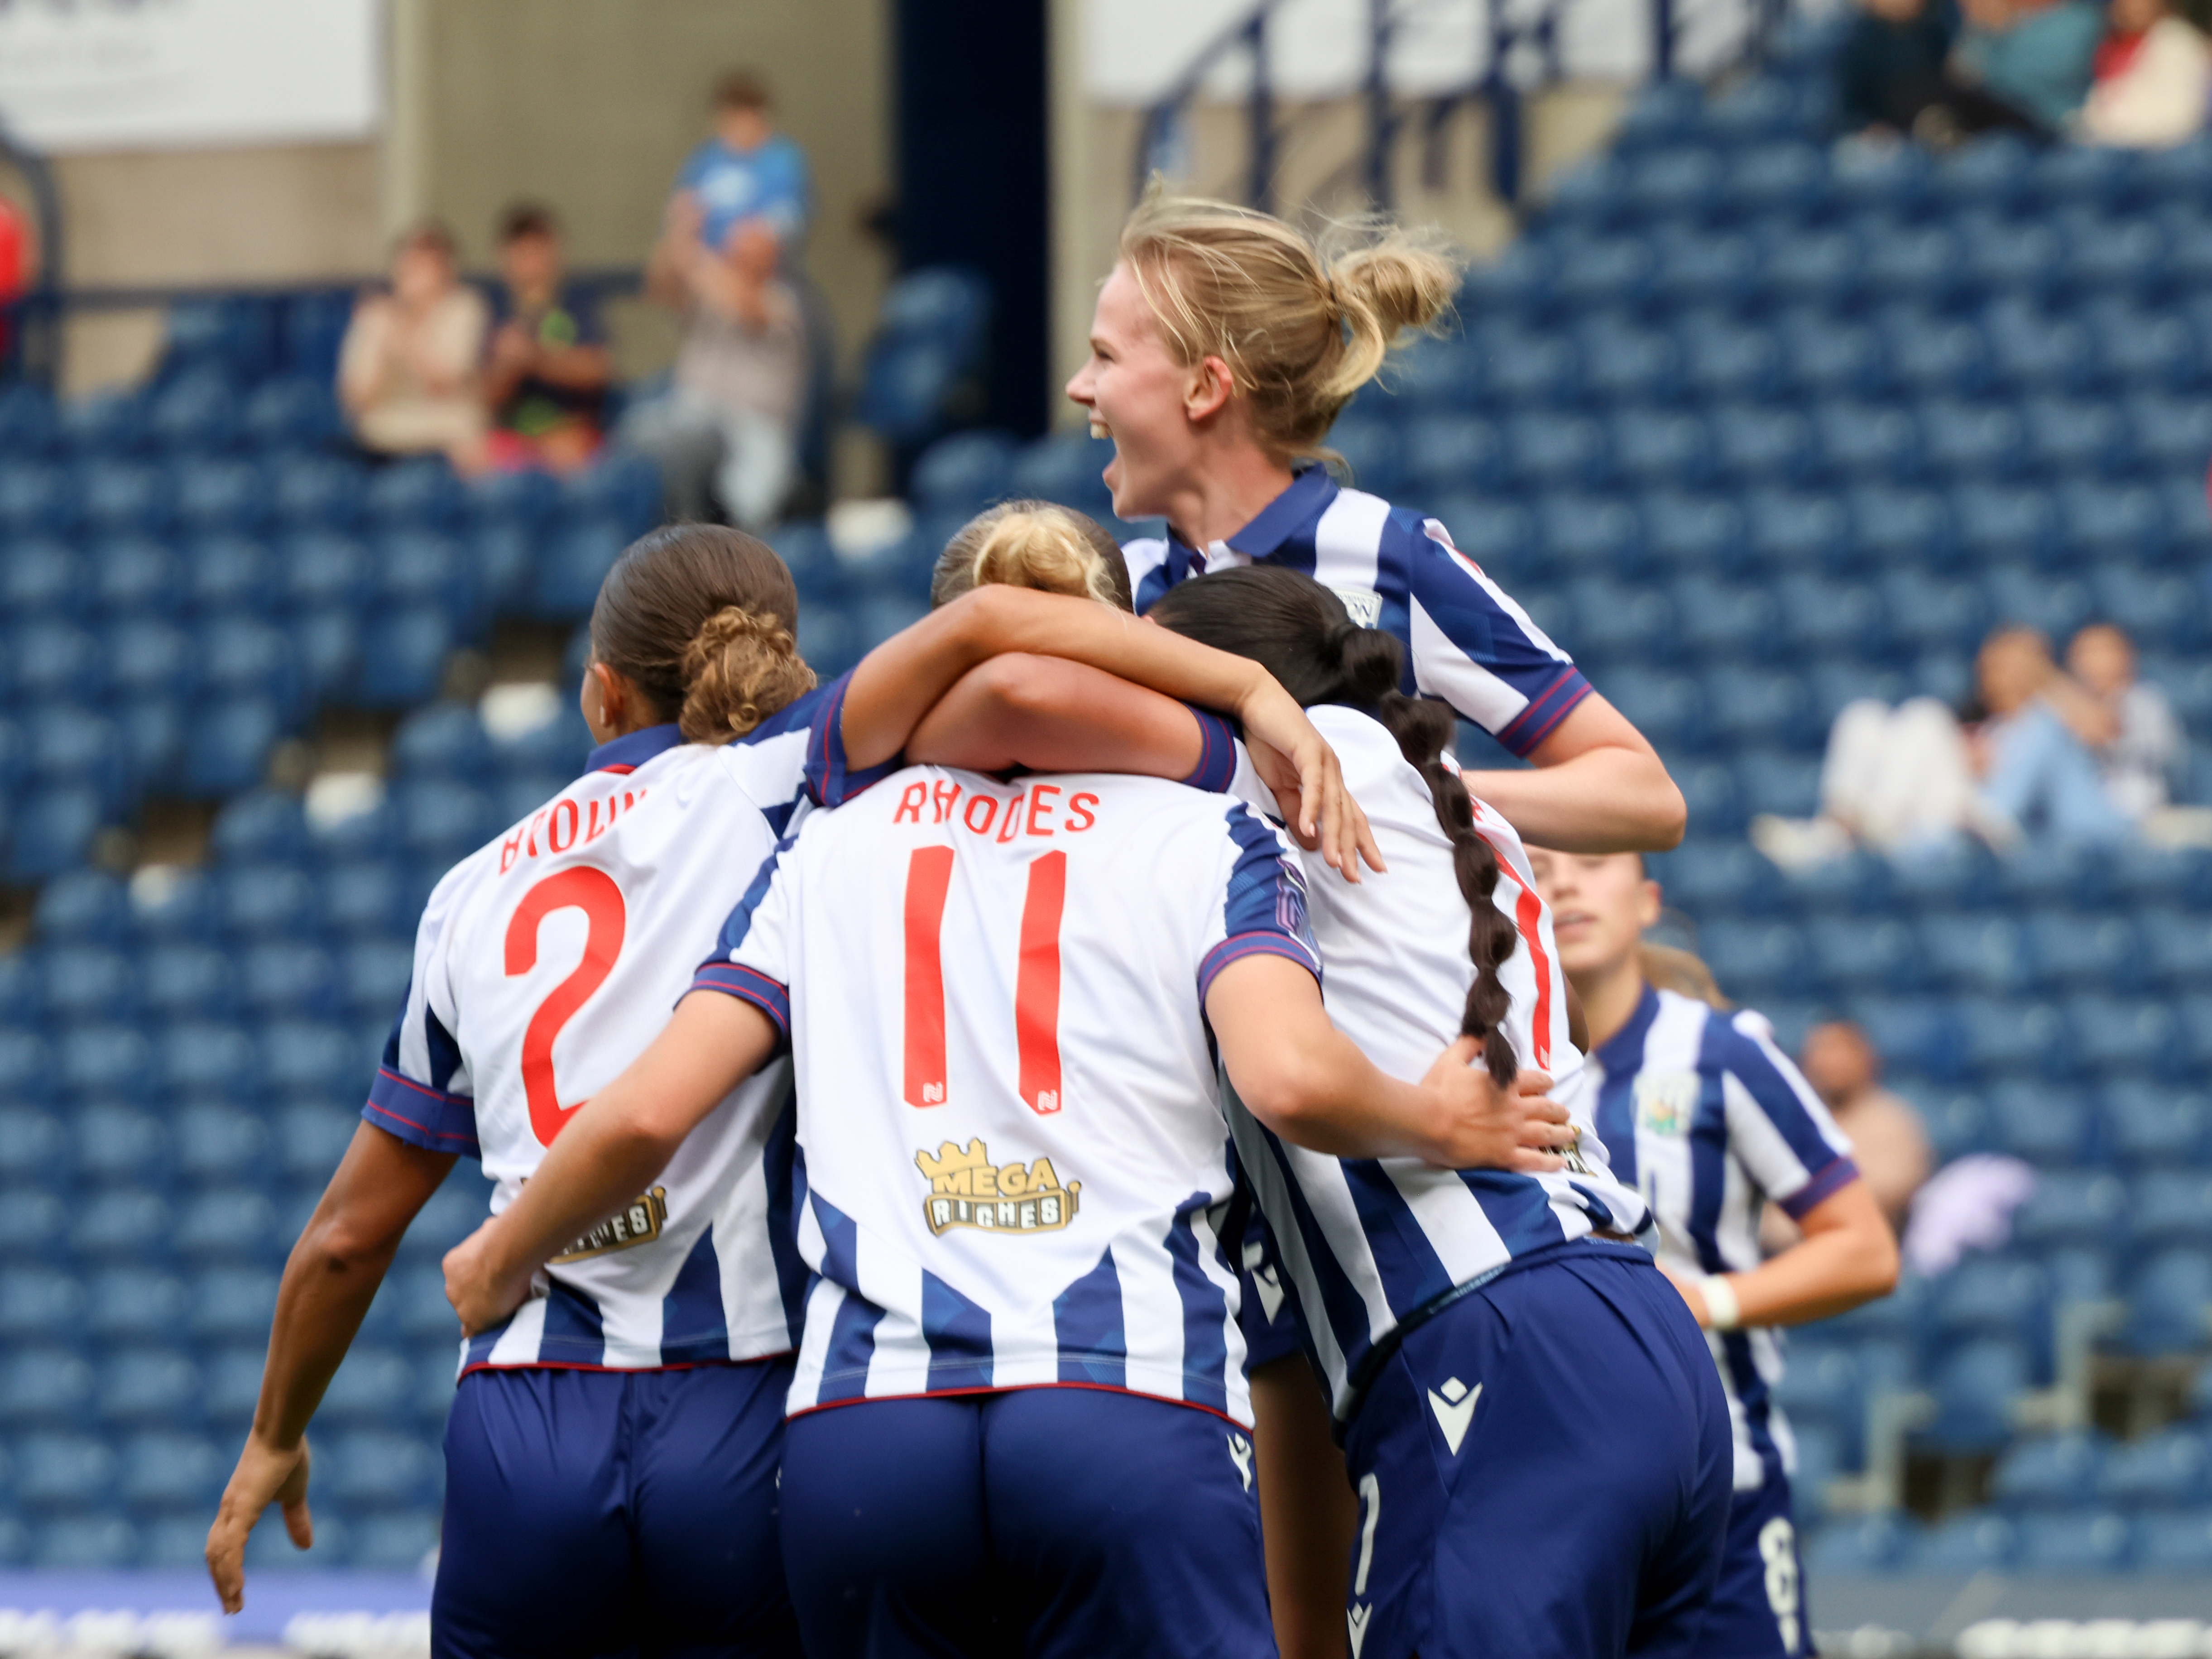
[[[916,847],[907,858],[907,1088],[909,1106],[945,1104],[945,896],[951,847]],[[1060,914],[1068,896],[1068,856],[1048,852],[1029,867],[1022,947],[1013,978],[1013,1042],[1022,1104],[1060,1110]]]

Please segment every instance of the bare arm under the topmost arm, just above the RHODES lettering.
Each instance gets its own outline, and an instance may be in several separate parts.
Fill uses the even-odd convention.
[[[1206,743],[1172,697],[1062,657],[1009,653],[967,670],[907,741],[907,759],[971,772],[1133,772],[1188,779]]]

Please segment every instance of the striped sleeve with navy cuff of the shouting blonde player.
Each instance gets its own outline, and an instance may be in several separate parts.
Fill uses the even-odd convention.
[[[1590,681],[1438,520],[1394,511],[1383,535],[1407,568],[1413,688],[1513,754],[1531,754],[1590,695]]]

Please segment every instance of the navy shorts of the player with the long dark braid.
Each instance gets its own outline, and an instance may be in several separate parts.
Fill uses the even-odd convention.
[[[1734,1447],[1646,1252],[1566,1245],[1416,1325],[1345,1455],[1358,1659],[1705,1652]]]

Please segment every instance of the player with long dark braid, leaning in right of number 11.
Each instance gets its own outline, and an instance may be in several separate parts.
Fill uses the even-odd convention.
[[[1449,710],[1398,690],[1398,641],[1263,564],[1192,577],[1150,617],[1263,664],[1367,812],[1387,874],[1307,878],[1338,1029],[1400,1077],[1475,1037],[1498,1082],[1551,1073],[1571,1099],[1582,1055],[1551,916],[1520,836],[1447,754]],[[1334,1159],[1230,1110],[1272,1234],[1245,1248],[1256,1312],[1296,1310],[1245,1323],[1283,1650],[1340,1650],[1327,1626],[1345,1617],[1363,1659],[1692,1652],[1728,1517],[1728,1413],[1588,1115],[1568,1166],[1528,1175]],[[1292,1329],[1343,1460],[1305,1367],[1281,1358]]]

